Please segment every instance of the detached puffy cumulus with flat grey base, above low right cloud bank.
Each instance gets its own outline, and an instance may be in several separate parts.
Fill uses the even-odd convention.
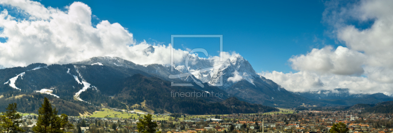
[[[346,47],[338,46],[333,51],[332,46],[322,49],[312,49],[307,55],[294,56],[289,59],[295,70],[312,71],[319,74],[333,73],[338,75],[361,75],[365,55]]]

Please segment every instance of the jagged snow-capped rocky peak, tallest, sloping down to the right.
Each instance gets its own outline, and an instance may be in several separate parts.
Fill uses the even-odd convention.
[[[192,56],[188,66],[178,63],[174,68],[182,73],[190,71],[201,82],[216,85],[228,94],[252,103],[275,107],[314,104],[307,98],[295,95],[258,75],[251,64],[241,56],[231,57],[222,63]]]

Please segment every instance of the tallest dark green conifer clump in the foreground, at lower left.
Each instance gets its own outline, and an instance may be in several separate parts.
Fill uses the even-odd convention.
[[[61,126],[64,126],[64,120],[57,116],[56,108],[52,110],[51,103],[49,102],[48,98],[45,97],[44,103],[41,104],[41,107],[38,110],[36,126],[34,126],[32,130],[35,133],[63,133],[60,128]]]

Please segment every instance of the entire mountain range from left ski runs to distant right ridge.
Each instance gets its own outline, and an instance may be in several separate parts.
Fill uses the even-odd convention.
[[[146,54],[153,53],[154,47],[149,46],[144,52]],[[185,57],[183,57],[183,60],[185,60]],[[5,68],[0,69],[0,82],[3,83],[0,85],[0,90],[1,92],[19,91],[19,93],[25,95],[44,93],[54,98],[59,97],[69,101],[78,100],[93,105],[105,104],[112,108],[123,109],[143,103],[143,106],[152,111],[180,111],[186,113],[258,111],[255,109],[273,111],[268,107],[257,107],[258,104],[293,108],[299,106],[350,106],[393,100],[391,95],[388,96],[383,93],[351,94],[348,89],[290,92],[275,82],[258,75],[250,63],[241,56],[231,57],[222,64],[197,56],[191,56],[190,60],[192,62],[189,63],[188,69],[184,63],[180,62],[175,64],[173,71],[170,65],[138,65],[118,57],[94,57],[65,65],[53,64],[47,66],[38,63],[31,64],[28,67]],[[206,69],[209,67],[210,69]],[[188,71],[192,73],[192,77],[169,78],[169,75],[187,73]],[[209,86],[219,84],[221,78],[223,79],[223,86]],[[196,84],[194,79],[200,82],[202,86]],[[133,83],[137,81],[140,84]],[[194,86],[171,87],[170,82],[188,83]],[[134,87],[130,88],[131,86]],[[170,97],[170,91],[208,91],[221,93],[223,96],[192,100],[193,98]],[[160,95],[166,96],[162,97]],[[114,98],[109,96],[114,96]],[[232,110],[220,104],[230,97],[237,97],[237,99],[245,101],[242,105],[253,108],[250,108],[250,110]],[[155,98],[162,100],[157,101],[154,100]],[[188,106],[174,108],[179,106],[176,104],[179,101],[190,107],[198,105],[206,108],[202,108],[200,111]],[[208,111],[211,107],[217,107],[223,111]]]

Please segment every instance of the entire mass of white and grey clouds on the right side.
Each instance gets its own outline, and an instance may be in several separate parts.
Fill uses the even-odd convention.
[[[326,2],[323,22],[345,46],[312,49],[288,61],[296,73],[260,75],[291,91],[348,88],[351,93],[393,92],[393,1]],[[351,22],[372,22],[360,28]]]

